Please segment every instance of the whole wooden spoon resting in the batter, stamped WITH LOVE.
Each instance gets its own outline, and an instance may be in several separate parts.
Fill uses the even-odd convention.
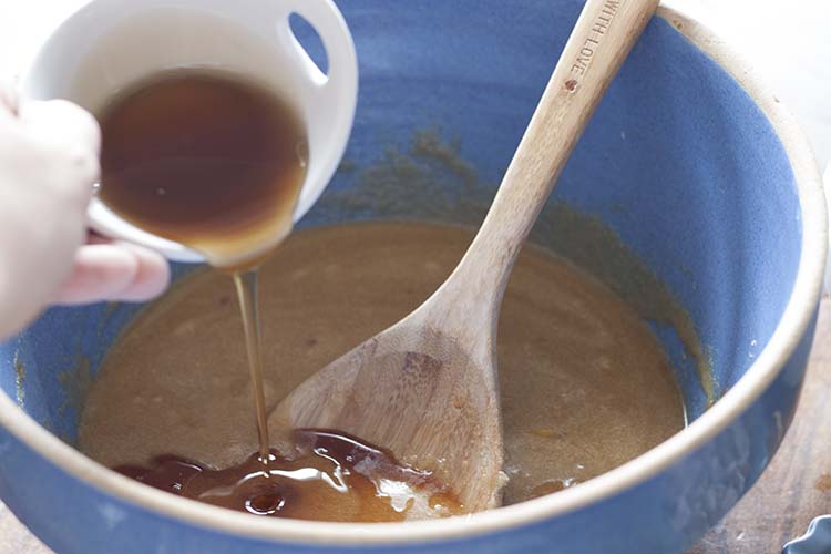
[[[501,500],[496,322],[509,275],[577,138],[658,0],[589,0],[490,212],[448,280],[275,410],[275,429],[337,429],[432,470],[465,510]],[[586,183],[591,186],[591,183]]]

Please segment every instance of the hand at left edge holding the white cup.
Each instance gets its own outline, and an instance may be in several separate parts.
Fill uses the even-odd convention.
[[[0,84],[0,338],[50,304],[147,300],[170,279],[146,248],[89,237],[95,120],[65,101],[19,103]]]

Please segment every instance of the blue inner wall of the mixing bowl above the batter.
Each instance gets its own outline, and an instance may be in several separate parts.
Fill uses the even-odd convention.
[[[581,4],[342,2],[360,60],[357,119],[332,185],[299,227],[478,224]],[[311,39],[308,29],[297,32]],[[314,41],[309,49],[320,55]],[[794,281],[800,229],[793,174],[768,120],[718,64],[655,19],[532,238],[604,278],[650,320],[695,419],[707,402],[699,366],[724,392],[773,332]],[[0,345],[0,388],[73,442],[86,387],[140,308],[50,310]]]

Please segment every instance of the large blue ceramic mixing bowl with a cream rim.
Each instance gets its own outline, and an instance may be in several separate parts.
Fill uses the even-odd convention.
[[[581,2],[362,0],[341,9],[361,64],[348,165],[359,173],[386,148],[406,150],[414,131],[438,126],[460,138],[482,183],[497,183]],[[330,198],[357,186],[349,170]],[[434,202],[464,194],[450,188]],[[691,424],[636,460],[531,502],[406,525],[264,521],[198,505],[71,447],[79,396],[66,383],[94,377],[137,309],[92,306],[51,310],[0,346],[0,496],[61,553],[684,552],[758,479],[793,414],[825,258],[818,172],[752,72],[706,29],[663,9],[555,201],[551,209],[561,203],[602,219],[668,286],[724,393],[700,413],[681,379]],[[302,225],[390,215],[326,205]]]

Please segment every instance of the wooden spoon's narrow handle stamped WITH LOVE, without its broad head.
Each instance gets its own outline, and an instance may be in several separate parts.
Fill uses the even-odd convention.
[[[476,314],[484,306],[499,312],[525,237],[657,4],[658,0],[586,2],[482,228],[437,302],[453,304],[454,312],[468,322],[486,320],[491,314]]]

